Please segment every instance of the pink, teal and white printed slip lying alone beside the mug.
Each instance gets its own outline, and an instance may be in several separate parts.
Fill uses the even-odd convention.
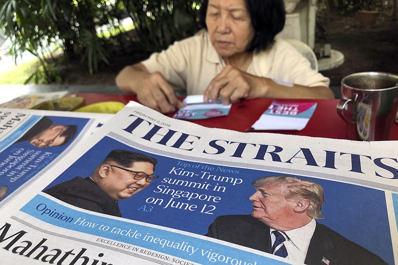
[[[279,102],[274,100],[250,129],[301,131],[314,113],[316,104],[315,102]]]

